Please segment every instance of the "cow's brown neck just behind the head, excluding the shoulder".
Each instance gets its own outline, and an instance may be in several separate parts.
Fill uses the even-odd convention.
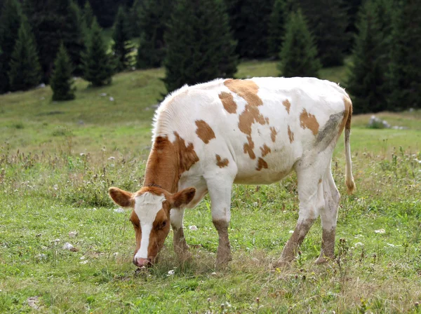
[[[156,137],[147,159],[144,186],[160,186],[175,193],[180,179],[178,147],[167,137]]]

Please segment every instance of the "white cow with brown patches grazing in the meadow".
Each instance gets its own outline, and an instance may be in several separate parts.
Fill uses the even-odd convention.
[[[272,184],[293,170],[299,217],[274,266],[290,264],[317,217],[323,229],[316,263],[333,259],[340,193],[330,163],[345,129],[345,183],[355,188],[349,133],[352,102],[344,89],[317,78],[216,79],[183,86],[156,110],[142,188],[109,196],[131,207],[133,264],[151,266],[173,228],[178,258],[191,258],[183,231],[186,208],[206,193],[219,235],[216,268],[232,260],[228,238],[233,184]]]

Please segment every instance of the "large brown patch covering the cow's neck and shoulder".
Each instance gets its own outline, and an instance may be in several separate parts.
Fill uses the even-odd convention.
[[[145,186],[161,186],[162,189],[175,193],[182,173],[199,161],[193,144],[186,146],[185,140],[177,132],[174,135],[173,143],[168,137],[156,137],[147,159]]]

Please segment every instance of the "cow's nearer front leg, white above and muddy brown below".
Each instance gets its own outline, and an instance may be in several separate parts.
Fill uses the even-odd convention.
[[[232,260],[228,238],[228,226],[231,219],[232,181],[233,179],[230,176],[206,179],[211,202],[213,226],[215,226],[219,235],[215,263],[217,269],[226,268],[228,262]]]

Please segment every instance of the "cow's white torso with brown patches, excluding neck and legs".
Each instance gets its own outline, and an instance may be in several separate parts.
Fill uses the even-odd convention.
[[[173,142],[176,133],[192,143],[199,162],[187,175],[235,167],[235,182],[272,183],[335,139],[344,97],[342,88],[317,78],[219,79],[168,97],[154,136]]]

